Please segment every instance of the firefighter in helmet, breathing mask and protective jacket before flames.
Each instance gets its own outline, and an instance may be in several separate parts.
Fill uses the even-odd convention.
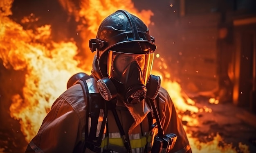
[[[70,78],[25,152],[190,153],[170,96],[150,74],[156,45],[147,26],[118,10],[89,47],[92,74]]]

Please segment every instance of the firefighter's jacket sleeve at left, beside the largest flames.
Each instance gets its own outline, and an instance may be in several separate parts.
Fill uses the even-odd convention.
[[[25,153],[72,153],[79,139],[79,117],[64,98],[52,105]]]

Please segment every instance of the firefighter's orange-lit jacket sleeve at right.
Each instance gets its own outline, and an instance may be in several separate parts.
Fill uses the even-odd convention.
[[[177,140],[174,148],[171,150],[171,153],[191,153],[191,147],[182,122],[177,115],[173,101],[164,88],[161,88],[159,92],[158,107],[165,134],[174,133],[177,135]]]

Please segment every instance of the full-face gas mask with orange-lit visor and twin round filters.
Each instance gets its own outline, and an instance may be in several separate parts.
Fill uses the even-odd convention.
[[[110,101],[119,95],[126,103],[136,104],[148,97],[154,99],[160,90],[159,76],[150,74],[154,53],[130,54],[108,52],[108,77],[99,79],[101,96]]]

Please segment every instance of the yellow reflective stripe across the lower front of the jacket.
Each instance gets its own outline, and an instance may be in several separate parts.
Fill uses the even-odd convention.
[[[117,146],[124,146],[124,142],[123,142],[122,138],[109,138],[109,143],[115,144]],[[144,147],[146,145],[146,143],[147,143],[146,137],[142,137],[141,139],[130,140],[131,149]],[[102,140],[100,147],[103,148],[106,145],[108,145],[107,138]]]

